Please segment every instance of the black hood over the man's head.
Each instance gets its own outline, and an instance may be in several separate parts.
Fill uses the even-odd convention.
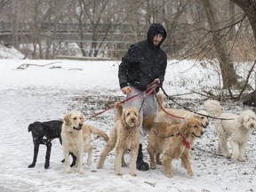
[[[150,44],[153,44],[153,37],[156,36],[156,34],[161,34],[163,36],[163,40],[160,42],[160,44],[157,45],[159,47],[161,44],[163,44],[164,39],[167,36],[164,26],[160,23],[153,23],[148,28],[148,41]]]

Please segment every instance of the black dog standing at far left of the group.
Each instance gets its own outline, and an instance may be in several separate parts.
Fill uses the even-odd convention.
[[[36,165],[36,159],[38,155],[39,145],[43,144],[46,146],[46,156],[44,168],[47,169],[50,165],[50,156],[52,149],[52,140],[59,138],[60,144],[62,143],[60,138],[61,125],[62,121],[53,120],[48,122],[35,122],[33,124],[28,125],[28,132],[32,132],[33,142],[34,142],[34,157],[32,164],[28,165],[28,168],[33,168]],[[70,155],[73,158],[72,164],[70,166],[74,166],[76,164],[76,156],[72,153]],[[62,163],[64,160],[61,161]]]

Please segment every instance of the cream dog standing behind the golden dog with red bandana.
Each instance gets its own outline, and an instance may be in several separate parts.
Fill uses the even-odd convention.
[[[157,100],[159,100],[162,108],[164,108],[164,95],[162,93],[157,93]],[[205,110],[198,110],[196,113],[190,112],[188,110],[177,109],[177,108],[164,108],[167,113],[173,115],[170,116],[166,114],[163,109],[158,106],[157,109],[157,122],[166,122],[170,124],[180,124],[184,119],[196,117],[202,123],[204,128],[209,124],[208,113]],[[202,115],[201,115],[202,114]],[[180,118],[182,117],[182,118]]]

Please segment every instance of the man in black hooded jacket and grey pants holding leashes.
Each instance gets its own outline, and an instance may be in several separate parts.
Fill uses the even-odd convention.
[[[166,36],[165,28],[159,23],[154,23],[148,28],[147,40],[132,44],[122,58],[118,69],[118,78],[120,88],[127,95],[127,98],[138,93],[145,93],[148,84],[152,82],[163,84],[167,56],[160,45]],[[156,89],[156,92],[158,90],[159,88]],[[125,106],[133,106],[140,110],[140,148],[137,157],[137,169],[147,171],[149,166],[143,161],[142,143],[148,132],[142,130],[142,121],[143,116],[156,113],[156,97],[154,94],[149,94],[146,98],[140,95],[140,97],[128,100]]]

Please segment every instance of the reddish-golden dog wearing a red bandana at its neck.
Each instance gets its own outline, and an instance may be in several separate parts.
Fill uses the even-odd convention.
[[[203,134],[204,128],[195,117],[188,118],[181,124],[156,124],[156,129],[151,129],[148,133],[150,168],[156,169],[156,163],[160,164],[159,156],[162,154],[167,177],[172,177],[172,159],[177,158],[181,159],[181,164],[187,169],[188,175],[192,176],[189,149],[196,138]]]

